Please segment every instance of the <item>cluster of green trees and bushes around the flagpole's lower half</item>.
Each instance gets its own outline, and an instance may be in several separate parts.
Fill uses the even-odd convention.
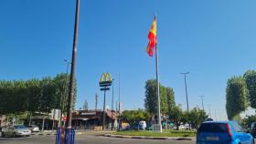
[[[137,110],[124,110],[121,119],[126,120],[130,125],[137,124],[140,120],[150,121],[156,118],[157,114],[157,82],[150,79],[145,82],[144,108]],[[199,124],[208,118],[206,112],[200,108],[192,108],[188,112],[176,105],[175,92],[172,87],[165,87],[160,84],[160,104],[161,114],[169,122],[175,124],[179,129],[181,124],[189,123],[193,128],[198,128]],[[164,117],[163,117],[164,118]]]

